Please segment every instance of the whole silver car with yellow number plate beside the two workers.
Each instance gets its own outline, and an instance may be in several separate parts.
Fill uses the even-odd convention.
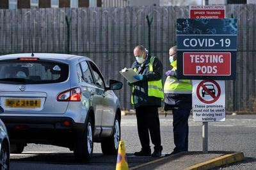
[[[0,57],[0,115],[7,127],[11,153],[28,143],[74,150],[89,160],[93,142],[102,153],[116,154],[121,110],[99,68],[88,57],[56,53],[20,53]]]

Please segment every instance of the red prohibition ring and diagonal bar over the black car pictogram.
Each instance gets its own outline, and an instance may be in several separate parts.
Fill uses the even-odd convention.
[[[207,89],[207,87],[205,87],[204,83],[207,83],[207,82],[211,82],[213,83],[214,85],[216,85],[217,89],[218,89],[218,94],[217,96],[215,96],[214,94],[212,94],[212,92]],[[201,96],[200,96],[200,87],[202,87],[211,97],[212,97],[212,100],[211,101],[206,101],[205,99],[203,99]],[[220,94],[221,94],[221,91],[220,91],[220,85],[214,81],[214,80],[203,80],[201,81],[198,86],[197,86],[197,89],[196,89],[196,95],[198,97],[198,99],[200,101],[202,101],[202,103],[206,103],[206,104],[212,104],[214,102],[216,102],[219,98],[220,98]]]

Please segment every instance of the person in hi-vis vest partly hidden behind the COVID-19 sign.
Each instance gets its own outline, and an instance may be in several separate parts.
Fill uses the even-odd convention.
[[[172,110],[174,153],[188,151],[188,118],[192,108],[191,80],[177,79],[177,46],[169,50],[169,60],[173,67],[166,71],[164,83],[164,110]],[[179,56],[178,56],[179,57]]]

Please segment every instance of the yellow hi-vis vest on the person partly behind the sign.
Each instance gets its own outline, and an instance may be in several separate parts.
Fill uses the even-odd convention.
[[[177,60],[172,62],[172,71],[177,69]],[[178,80],[173,76],[167,76],[164,83],[164,94],[191,94],[192,84],[191,80]]]

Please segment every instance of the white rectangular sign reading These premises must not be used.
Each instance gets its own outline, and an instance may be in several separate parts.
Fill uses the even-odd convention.
[[[225,81],[192,80],[194,122],[225,121]]]

